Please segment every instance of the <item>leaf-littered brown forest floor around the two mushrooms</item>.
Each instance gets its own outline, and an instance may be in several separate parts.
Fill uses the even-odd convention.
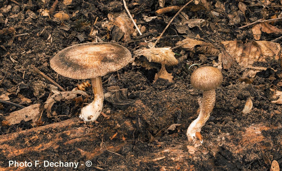
[[[136,50],[152,47],[185,3],[126,1],[140,37],[120,0],[0,0],[0,170],[74,170],[70,162],[78,162],[78,170],[269,171],[274,160],[282,168],[282,1],[192,1],[155,46],[185,43],[172,49],[178,64],[166,66],[173,78],[157,79],[161,65]],[[117,43],[135,58],[135,65],[102,77],[104,93],[123,96],[110,94],[105,115],[92,123],[78,118],[93,100],[90,80],[63,77],[49,63],[60,50],[87,42]],[[188,142],[186,130],[202,97],[190,76],[202,66],[220,69],[223,82],[201,144]],[[36,68],[68,92],[89,96],[46,108],[54,85]],[[64,167],[50,165],[59,161]]]

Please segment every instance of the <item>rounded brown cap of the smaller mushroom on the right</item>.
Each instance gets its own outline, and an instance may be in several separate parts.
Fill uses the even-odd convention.
[[[191,85],[198,90],[212,90],[222,83],[222,73],[214,67],[201,67],[191,75]]]

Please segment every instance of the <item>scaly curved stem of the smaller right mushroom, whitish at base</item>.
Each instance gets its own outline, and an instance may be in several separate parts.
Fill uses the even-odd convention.
[[[205,90],[203,92],[203,99],[201,104],[201,111],[198,118],[196,118],[187,129],[188,141],[194,141],[196,137],[196,132],[200,132],[201,128],[205,125],[206,121],[209,119],[212,109],[215,103],[215,89]],[[200,140],[201,141],[201,140]],[[202,143],[202,141],[201,141]]]

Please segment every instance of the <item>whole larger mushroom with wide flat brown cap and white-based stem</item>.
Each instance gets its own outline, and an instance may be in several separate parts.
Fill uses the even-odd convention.
[[[93,102],[81,109],[79,118],[95,121],[103,108],[102,76],[117,71],[132,61],[127,48],[115,43],[82,43],[57,53],[50,66],[62,76],[73,79],[91,79]]]

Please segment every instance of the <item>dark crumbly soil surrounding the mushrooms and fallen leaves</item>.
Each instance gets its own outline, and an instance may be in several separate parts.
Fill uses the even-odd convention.
[[[7,13],[2,10],[2,16],[0,13],[0,18],[3,19],[3,22],[0,20],[0,31],[6,28],[12,30],[3,34],[0,32],[0,95],[9,93],[10,102],[27,107],[35,103],[43,105],[48,98],[51,83],[34,72],[31,65],[53,78],[65,90],[71,91],[77,87],[77,84],[86,82],[87,80],[74,80],[58,75],[50,68],[49,60],[70,45],[93,42],[95,38],[89,35],[91,26],[98,30],[97,37],[102,41],[118,43],[128,48],[132,54],[134,50],[144,45],[142,41],[125,43],[121,40],[112,40],[112,31],[108,31],[103,26],[103,22],[108,20],[108,13],[121,13],[124,10],[122,1],[73,0],[70,5],[64,5],[60,1],[55,13],[64,11],[72,16],[65,21],[55,20],[52,15],[50,18],[39,15],[40,9],[50,9],[54,3],[53,0],[44,2],[0,0],[0,8],[4,9],[6,5],[12,8]],[[245,16],[250,23],[261,18],[270,19],[271,16],[281,13],[281,1],[271,2],[272,5],[264,8],[257,1],[246,1],[248,8]],[[174,3],[185,4],[180,1],[174,1]],[[209,1],[210,8],[215,8],[216,3],[216,1]],[[137,19],[137,23],[146,27],[146,32],[158,31],[146,37],[148,39],[158,37],[175,15],[175,13],[165,13],[164,16],[145,22],[142,14],[155,16],[154,12],[159,8],[158,1],[127,1],[127,4],[131,13],[134,14],[134,19]],[[166,6],[171,6],[170,2],[166,2]],[[205,8],[185,9],[184,13],[189,18],[205,19],[208,24],[201,28],[190,28],[186,34],[178,33],[175,25],[171,24],[163,36],[166,38],[161,39],[157,47],[175,47],[175,43],[184,38],[183,35],[196,37],[199,34],[201,38],[205,38],[206,42],[212,43],[219,50],[223,48],[221,41],[253,40],[250,27],[238,28],[246,24],[243,14],[238,13],[240,23],[235,25],[229,23],[230,18],[227,15],[237,8],[238,1],[228,1],[225,3],[226,11],[218,17],[211,14],[212,10]],[[78,11],[76,16],[73,16],[76,11]],[[36,17],[33,17],[31,12]],[[98,20],[94,26],[96,18]],[[281,20],[272,24],[281,29]],[[43,30],[45,31],[42,32]],[[24,33],[28,34],[17,36]],[[52,41],[50,41],[50,35]],[[84,35],[82,40],[81,35]],[[174,35],[179,37],[169,37]],[[260,40],[271,41],[280,36],[281,34],[262,33]],[[279,40],[277,43],[281,45],[282,41]],[[181,48],[174,49],[174,52],[181,54],[175,55],[176,58],[185,54],[188,54],[188,58],[178,66],[166,68],[169,73],[173,73],[173,83],[165,79],[154,81],[157,69],[146,70],[131,64],[102,77],[105,93],[112,88],[128,88],[128,98],[135,100],[135,103],[115,106],[104,101],[103,112],[109,115],[109,118],[100,115],[97,123],[85,124],[77,120],[75,127],[49,128],[48,131],[39,133],[37,139],[28,145],[30,151],[20,155],[17,155],[16,151],[13,155],[8,155],[9,149],[1,144],[0,170],[74,170],[67,167],[8,167],[10,160],[31,161],[33,164],[35,160],[81,163],[90,160],[93,163],[91,167],[80,166],[80,163],[78,170],[107,171],[267,171],[273,160],[277,160],[282,168],[282,108],[280,104],[271,103],[273,100],[271,89],[281,91],[277,85],[281,81],[280,60],[254,63],[254,67],[274,68],[275,72],[271,69],[259,72],[254,78],[248,78],[252,80],[251,83],[242,81],[243,69],[237,64],[231,68],[222,69],[223,82],[216,89],[215,107],[201,131],[204,143],[200,144],[196,141],[195,145],[187,141],[186,130],[197,117],[198,99],[202,97],[202,92],[194,89],[190,84],[190,75],[198,66],[193,66],[190,70],[188,67],[195,63],[201,63],[201,66],[213,66],[217,62],[217,57],[207,56],[205,61],[201,61],[197,53],[181,52]],[[86,88],[86,93],[93,95],[91,87]],[[18,94],[30,99],[31,102],[23,101]],[[252,99],[253,108],[250,113],[242,114],[248,98]],[[24,132],[19,134],[18,138],[8,142],[9,146],[26,147],[26,140],[33,137],[32,133],[36,133],[32,131],[34,127],[77,118],[81,108],[91,100],[93,97],[82,96],[70,102],[57,102],[52,107],[52,111],[57,114],[55,117],[47,118],[44,112],[41,118],[42,123],[37,125],[31,121],[22,121],[16,125],[2,123],[0,134],[8,138],[9,135],[31,129],[29,132],[31,134],[26,136],[24,133],[27,132]],[[0,103],[0,121],[16,110],[19,108]],[[181,125],[175,130],[165,131],[174,123]],[[69,134],[64,133],[68,129],[80,128],[91,136],[81,139],[78,137],[75,142]],[[56,136],[56,133],[60,135],[61,139],[57,142],[57,146],[32,150],[40,143],[50,141],[52,137],[47,136],[49,133],[52,136]],[[71,133],[75,134],[75,132]],[[115,133],[118,135],[110,140]],[[66,141],[70,143],[61,143]],[[192,147],[195,148],[195,153],[191,152]]]

